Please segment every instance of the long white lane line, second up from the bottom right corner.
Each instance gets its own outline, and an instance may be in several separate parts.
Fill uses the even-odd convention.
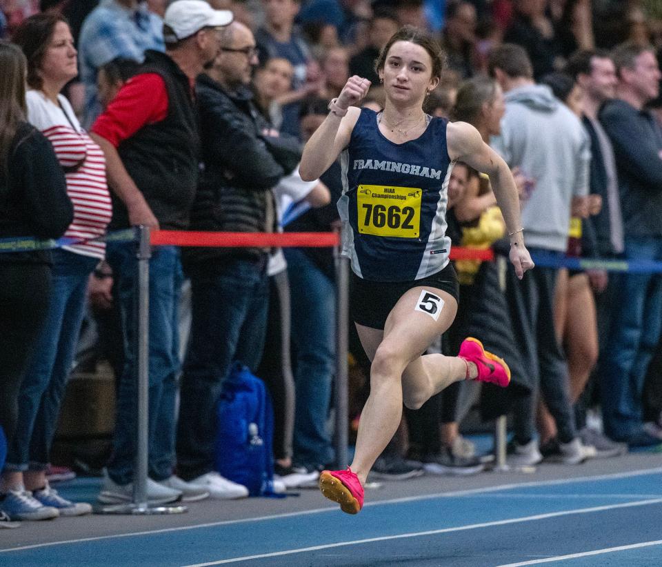
[[[353,541],[339,541],[336,544],[324,544],[319,546],[310,546],[297,549],[287,549],[283,551],[274,551],[272,553],[261,553],[259,555],[245,555],[244,557],[232,557],[230,559],[219,559],[218,561],[209,561],[208,563],[197,563],[185,567],[209,567],[211,565],[223,565],[228,563],[237,563],[238,561],[250,561],[252,559],[265,559],[267,557],[281,557],[283,555],[294,555],[295,553],[306,553],[308,551],[318,551],[321,549],[330,549],[345,546],[355,546],[359,544],[372,544],[375,541],[386,541],[389,539],[405,539],[410,537],[422,537],[425,535],[437,535],[442,533],[460,532],[463,530],[476,530],[478,528],[491,528],[492,526],[506,526],[508,524],[521,524],[526,521],[538,521],[542,519],[555,518],[559,516],[568,516],[573,514],[590,514],[594,512],[603,512],[605,510],[615,510],[617,508],[633,508],[634,506],[650,506],[651,504],[662,504],[662,498],[643,500],[637,502],[624,502],[623,504],[610,504],[609,506],[594,506],[592,508],[578,508],[576,510],[564,510],[562,512],[551,512],[548,514],[536,514],[534,516],[524,516],[519,518],[510,518],[505,520],[486,521],[482,524],[468,524],[465,526],[456,526],[454,528],[441,528],[439,530],[427,530],[424,532],[403,533],[398,535],[385,535],[381,537],[370,537],[367,539],[355,539]]]

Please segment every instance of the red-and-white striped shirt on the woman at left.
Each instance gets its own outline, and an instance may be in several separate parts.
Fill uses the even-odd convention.
[[[74,206],[74,220],[65,237],[91,239],[106,233],[112,216],[106,184],[106,159],[97,143],[81,128],[69,101],[59,95],[59,106],[38,90],[29,90],[28,121],[53,145],[65,171],[67,193]],[[89,242],[66,250],[103,259],[106,244]]]

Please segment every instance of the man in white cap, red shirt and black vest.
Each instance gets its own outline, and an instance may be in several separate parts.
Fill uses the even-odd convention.
[[[219,29],[232,12],[212,10],[202,0],[177,0],[163,17],[165,53],[148,50],[145,63],[92,126],[106,155],[114,192],[112,228],[147,225],[183,229],[198,181],[199,137],[193,83],[219,53]],[[132,497],[137,392],[134,376],[134,243],[109,243],[108,263],[116,279],[126,364],[119,383],[117,425],[108,477],[99,501],[116,504]],[[181,285],[179,248],[163,246],[150,259],[150,408],[148,500],[164,504],[208,496],[172,474],[177,357],[177,296]]]

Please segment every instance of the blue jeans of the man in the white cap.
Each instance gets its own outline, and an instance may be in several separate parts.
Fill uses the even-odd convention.
[[[108,243],[121,312],[125,364],[117,394],[113,452],[108,476],[117,484],[133,480],[137,424],[137,320],[138,268],[134,243]],[[162,481],[174,466],[174,404],[179,373],[177,301],[183,281],[179,248],[158,246],[150,259],[149,341],[149,475]]]

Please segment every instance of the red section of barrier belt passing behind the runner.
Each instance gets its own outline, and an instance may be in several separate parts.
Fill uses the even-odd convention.
[[[338,246],[337,232],[199,232],[189,230],[154,230],[152,246],[204,246],[212,248],[327,248]],[[490,249],[452,248],[452,260],[493,260]]]

